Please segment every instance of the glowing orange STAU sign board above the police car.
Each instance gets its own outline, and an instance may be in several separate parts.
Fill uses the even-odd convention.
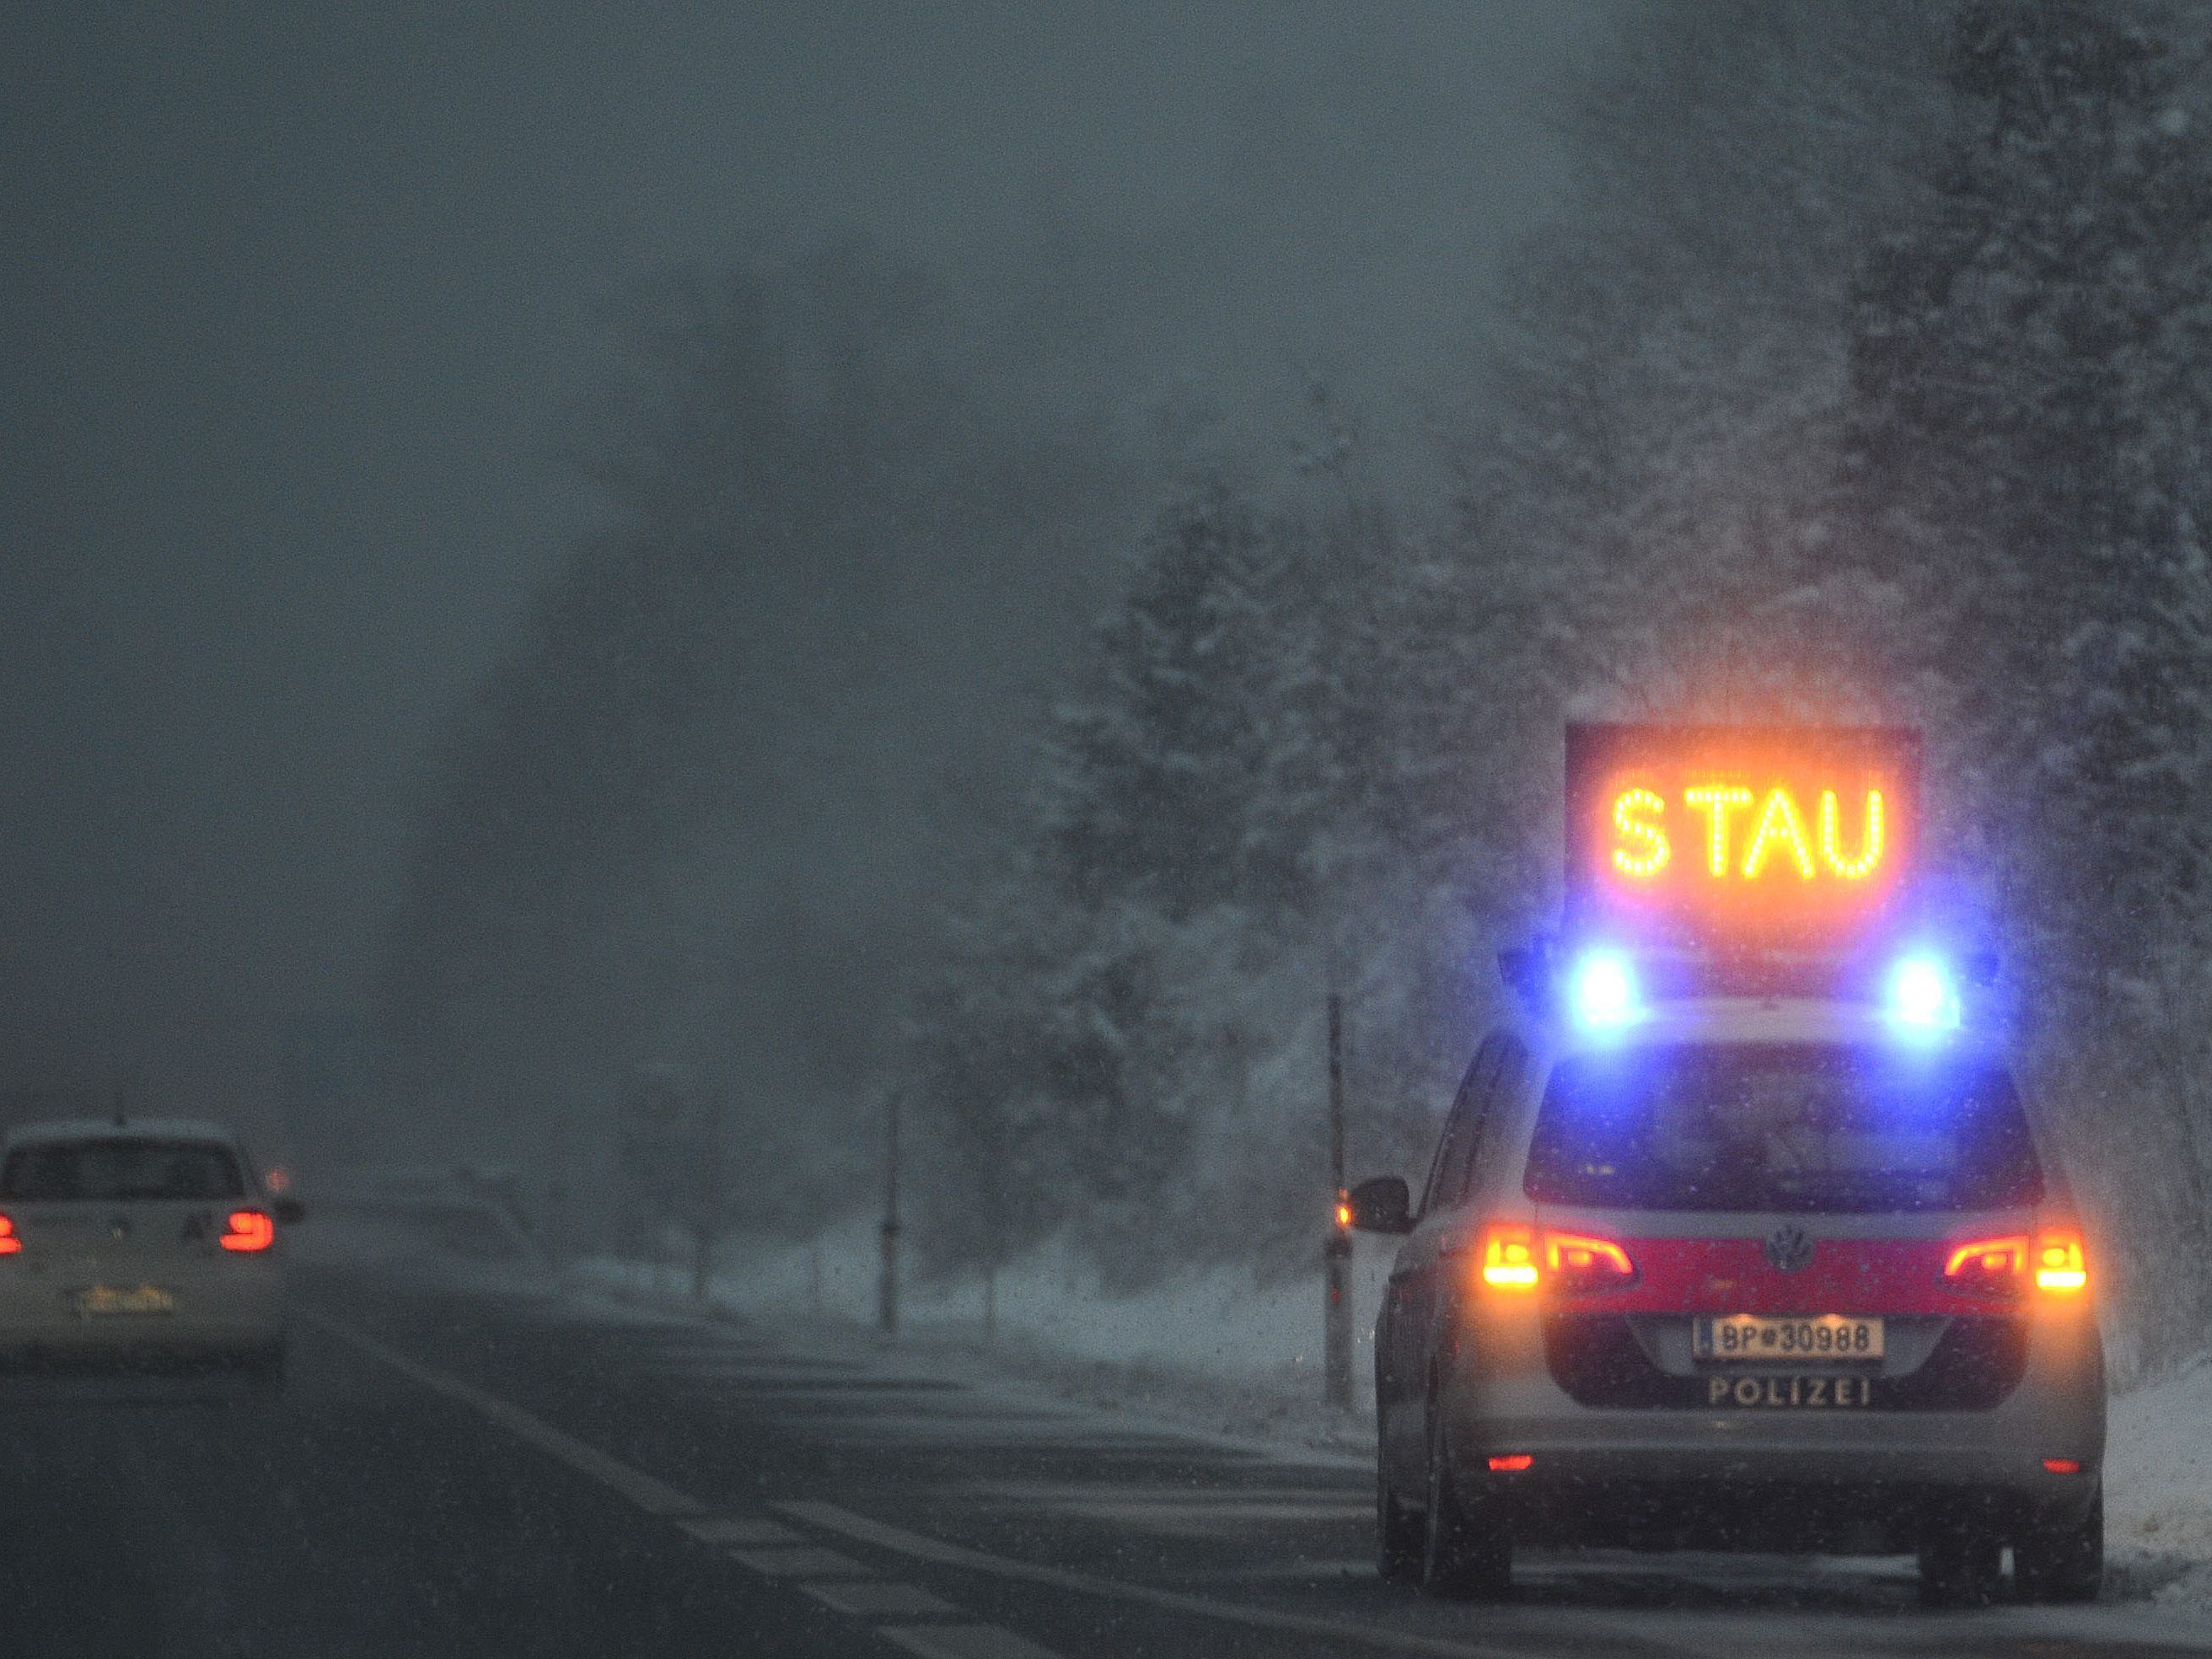
[[[1571,726],[1577,922],[1823,945],[1882,916],[1913,854],[1920,739],[1902,728]]]

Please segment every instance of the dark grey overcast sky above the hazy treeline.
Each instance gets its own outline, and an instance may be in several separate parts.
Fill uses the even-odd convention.
[[[1546,212],[1593,11],[18,4],[0,18],[0,1088],[257,1119],[358,995],[403,794],[591,502],[626,294],[869,230],[1175,270],[1133,387],[1433,374]],[[1166,254],[1166,263],[1164,263]]]

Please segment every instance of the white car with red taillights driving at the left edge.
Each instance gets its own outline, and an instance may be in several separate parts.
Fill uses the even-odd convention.
[[[0,1363],[9,1369],[239,1369],[283,1380],[272,1199],[219,1124],[153,1117],[18,1126],[0,1141]]]

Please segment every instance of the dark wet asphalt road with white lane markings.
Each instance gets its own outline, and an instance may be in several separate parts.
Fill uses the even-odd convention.
[[[0,1387],[0,1641],[35,1655],[2212,1652],[2141,1606],[1929,1615],[1905,1562],[1371,1571],[1371,1475],[849,1334],[425,1261],[303,1265],[281,1400]]]

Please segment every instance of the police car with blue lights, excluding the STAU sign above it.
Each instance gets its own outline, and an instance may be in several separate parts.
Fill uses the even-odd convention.
[[[1376,1323],[1387,1577],[1515,1544],[1920,1551],[1931,1604],[2104,1582],[2081,1217],[1938,969],[1646,1002],[1593,951],[1482,1044]],[[1736,962],[1714,975],[1752,973]]]

